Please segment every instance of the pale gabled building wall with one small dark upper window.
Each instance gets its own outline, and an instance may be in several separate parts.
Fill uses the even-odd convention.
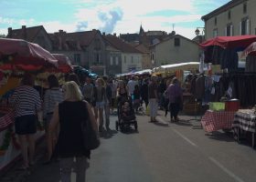
[[[165,41],[150,46],[153,67],[199,61],[200,48],[196,42],[174,35]]]

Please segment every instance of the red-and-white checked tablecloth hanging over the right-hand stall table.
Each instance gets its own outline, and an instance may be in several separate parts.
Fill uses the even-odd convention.
[[[235,111],[208,110],[202,116],[201,124],[207,132],[218,131],[219,129],[231,129],[235,113]]]

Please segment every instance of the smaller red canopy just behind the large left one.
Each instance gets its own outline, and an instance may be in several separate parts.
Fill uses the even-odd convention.
[[[53,69],[55,72],[69,73],[72,71],[71,61],[69,56],[64,54],[52,54],[58,60],[58,68]]]

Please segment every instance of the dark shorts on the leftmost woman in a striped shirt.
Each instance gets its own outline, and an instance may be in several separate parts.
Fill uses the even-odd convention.
[[[37,132],[37,117],[35,115],[18,116],[15,127],[17,135],[35,134]]]

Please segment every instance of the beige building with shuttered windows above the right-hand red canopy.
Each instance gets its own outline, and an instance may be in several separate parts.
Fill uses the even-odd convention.
[[[202,16],[206,39],[215,36],[256,35],[255,9],[255,0],[232,0]]]

